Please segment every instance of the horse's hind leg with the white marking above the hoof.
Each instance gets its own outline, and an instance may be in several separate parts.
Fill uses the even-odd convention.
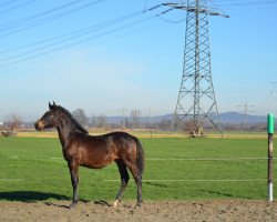
[[[126,165],[125,163],[122,161],[122,160],[116,160],[115,161],[117,167],[119,167],[119,171],[120,171],[120,174],[121,174],[121,188],[120,188],[120,191],[115,198],[115,201],[113,203],[113,206],[116,206],[117,203],[121,201],[122,196],[123,196],[123,193],[124,193],[124,190],[125,188],[127,186],[127,182],[129,182],[129,174],[127,174],[127,169],[126,169]]]

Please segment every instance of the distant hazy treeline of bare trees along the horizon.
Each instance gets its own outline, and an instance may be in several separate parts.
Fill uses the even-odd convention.
[[[116,117],[116,120],[104,114],[88,117],[83,109],[73,110],[72,115],[84,128],[93,129],[156,129],[172,130],[172,117],[164,115],[162,118],[142,117],[142,112],[137,109],[132,110],[127,117]],[[192,121],[184,121],[176,124],[177,130],[189,131]],[[176,127],[175,125],[175,127]],[[222,123],[224,131],[248,131],[248,130],[266,130],[266,122],[259,123]],[[23,121],[20,115],[11,114],[6,121],[0,122],[0,129],[32,129],[33,121]],[[203,123],[205,130],[215,130],[208,121]],[[175,128],[176,129],[176,128]]]

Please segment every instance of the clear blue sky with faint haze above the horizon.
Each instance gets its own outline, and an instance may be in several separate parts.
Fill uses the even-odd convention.
[[[55,101],[88,117],[173,113],[182,78],[183,10],[163,0],[0,1],[0,121],[34,120]],[[179,1],[171,1],[179,2]],[[214,0],[213,84],[219,112],[277,115],[277,1]]]

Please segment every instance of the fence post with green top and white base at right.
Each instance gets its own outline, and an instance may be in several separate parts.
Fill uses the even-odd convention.
[[[268,133],[268,201],[274,201],[274,114],[267,115],[267,133]]]

